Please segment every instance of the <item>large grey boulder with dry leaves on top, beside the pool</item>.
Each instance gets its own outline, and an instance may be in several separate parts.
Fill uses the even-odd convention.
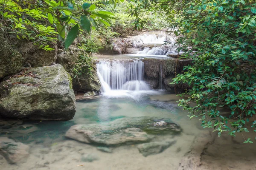
[[[0,84],[0,116],[70,120],[76,113],[72,79],[56,64],[31,68]]]

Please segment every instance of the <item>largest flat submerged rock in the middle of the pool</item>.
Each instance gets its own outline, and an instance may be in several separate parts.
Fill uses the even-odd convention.
[[[148,117],[121,118],[105,126],[97,124],[74,125],[66,133],[66,137],[79,142],[103,145],[136,144],[148,142],[153,134],[180,133],[181,129],[174,123],[154,126],[156,122]]]

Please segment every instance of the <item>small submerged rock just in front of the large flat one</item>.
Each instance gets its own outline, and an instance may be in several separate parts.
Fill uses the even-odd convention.
[[[175,140],[163,141],[163,142],[150,142],[150,143],[139,144],[137,147],[140,153],[142,153],[142,155],[146,157],[149,155],[154,155],[154,154],[163,152],[168,147],[175,144],[175,142],[176,142]]]

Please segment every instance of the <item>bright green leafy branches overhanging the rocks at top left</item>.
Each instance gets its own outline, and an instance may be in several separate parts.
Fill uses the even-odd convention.
[[[109,11],[97,11],[95,4],[79,2],[0,0],[0,26],[7,33],[15,33],[18,39],[31,40],[45,50],[52,50],[47,42],[56,41],[58,34],[58,40],[65,39],[64,46],[68,48],[79,28],[90,34],[97,23],[109,26],[108,18],[113,16]]]

